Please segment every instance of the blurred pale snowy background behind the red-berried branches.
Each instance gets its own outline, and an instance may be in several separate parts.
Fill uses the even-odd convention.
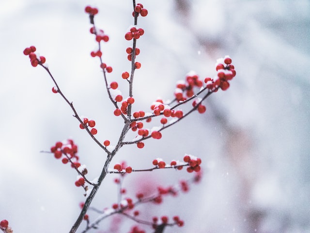
[[[161,140],[145,141],[143,149],[127,146],[115,156],[113,165],[125,160],[133,168],[150,167],[157,157],[168,163],[185,153],[202,158],[201,183],[162,205],[139,207],[141,218],[185,220],[183,228],[165,233],[310,233],[310,1],[141,3],[149,14],[138,21],[145,34],[137,44],[142,66],[135,76],[135,110],[147,112],[157,98],[173,98],[175,83],[191,70],[202,79],[214,76],[216,59],[225,55],[237,72],[227,91],[206,100],[206,113],[188,116]],[[40,151],[72,138],[90,180],[105,161],[70,108],[51,92],[46,71],[31,67],[26,47],[36,46],[47,58],[78,113],[96,121],[100,141],[116,144],[122,129],[99,61],[90,56],[97,47],[84,13],[88,4],[99,8],[95,22],[110,37],[102,46],[104,61],[113,67],[108,79],[119,82],[125,97],[121,74],[130,68],[125,49],[131,42],[124,40],[133,24],[130,0],[0,3],[0,219],[8,219],[16,233],[68,232],[84,200],[74,185],[75,171]],[[104,181],[93,206],[102,210],[117,201],[115,177]],[[190,177],[185,170],[135,173],[125,177],[124,187],[132,196]],[[112,232],[111,223],[120,233],[135,224],[110,218],[93,232]]]

